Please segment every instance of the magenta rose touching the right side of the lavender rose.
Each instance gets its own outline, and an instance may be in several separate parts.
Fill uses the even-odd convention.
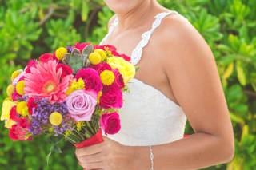
[[[104,109],[122,108],[122,91],[116,87],[104,87],[99,105]]]

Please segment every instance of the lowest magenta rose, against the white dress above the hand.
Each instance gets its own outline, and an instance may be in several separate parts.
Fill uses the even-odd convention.
[[[116,112],[102,114],[100,125],[105,134],[113,135],[119,132],[121,129],[119,114]]]

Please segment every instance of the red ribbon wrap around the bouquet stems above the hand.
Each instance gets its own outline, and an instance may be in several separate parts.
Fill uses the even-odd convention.
[[[89,139],[83,140],[82,142],[79,142],[77,144],[74,144],[74,146],[75,148],[84,148],[94,144],[102,143],[102,141],[104,141],[102,137],[102,128],[98,128],[98,132],[94,136],[91,136]],[[86,170],[86,168],[83,169]]]

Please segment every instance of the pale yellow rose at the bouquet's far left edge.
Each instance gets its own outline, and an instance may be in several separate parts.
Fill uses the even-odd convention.
[[[5,124],[6,128],[11,128],[12,125],[15,125],[15,121],[10,119],[10,109],[14,105],[16,105],[16,103],[14,101],[10,101],[8,99],[3,101],[1,121],[6,121],[6,124]]]

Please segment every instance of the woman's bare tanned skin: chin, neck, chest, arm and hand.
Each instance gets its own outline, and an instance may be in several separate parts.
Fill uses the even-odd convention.
[[[150,29],[153,16],[168,9],[155,0],[129,1],[125,9],[114,6],[125,1],[106,0],[119,25],[105,43],[130,55],[141,34]],[[138,66],[136,78],[182,106],[194,129],[187,138],[154,146],[154,169],[198,169],[230,162],[234,133],[229,110],[213,53],[194,26],[177,14],[164,18],[143,48]],[[76,150],[86,169],[150,169],[149,155],[148,147],[124,146],[109,138]]]

